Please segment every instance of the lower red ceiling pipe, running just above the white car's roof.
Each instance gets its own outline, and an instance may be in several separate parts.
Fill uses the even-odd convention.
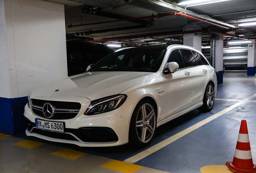
[[[130,39],[130,38],[146,38],[146,37],[153,37],[153,36],[164,36],[164,35],[175,35],[175,34],[190,34],[196,32],[206,32],[208,30],[191,30],[191,31],[178,31],[178,32],[166,32],[160,34],[145,34],[145,35],[138,35],[138,36],[126,36],[126,37],[117,37],[117,38],[107,38],[101,40],[91,40],[86,42],[105,42],[105,41],[112,41],[112,40],[122,40],[122,39]]]

